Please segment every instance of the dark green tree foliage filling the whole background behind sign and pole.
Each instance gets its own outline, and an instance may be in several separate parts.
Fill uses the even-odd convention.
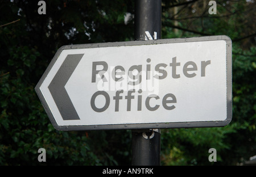
[[[163,129],[162,165],[237,165],[255,155],[255,3],[162,0],[162,38],[227,35],[233,41],[233,119],[223,128]],[[131,131],[60,132],[35,85],[62,45],[133,40],[134,1],[0,3],[0,165],[130,165]],[[47,161],[38,162],[38,149]],[[217,150],[217,162],[208,150]]]

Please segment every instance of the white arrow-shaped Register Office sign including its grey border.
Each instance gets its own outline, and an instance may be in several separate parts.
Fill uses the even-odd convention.
[[[59,130],[222,127],[232,119],[232,41],[67,45],[35,90]]]

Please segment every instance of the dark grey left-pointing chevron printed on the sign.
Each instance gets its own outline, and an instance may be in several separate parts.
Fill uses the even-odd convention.
[[[68,54],[48,88],[63,120],[80,120],[65,85],[84,54]]]

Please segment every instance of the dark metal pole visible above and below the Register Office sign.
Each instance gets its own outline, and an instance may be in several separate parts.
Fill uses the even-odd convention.
[[[161,38],[162,0],[135,0],[135,40]],[[160,129],[133,130],[132,165],[160,165]]]

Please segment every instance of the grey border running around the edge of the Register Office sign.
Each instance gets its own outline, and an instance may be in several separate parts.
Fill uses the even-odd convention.
[[[55,64],[57,58],[63,50],[67,49],[83,49],[83,48],[101,48],[101,47],[121,47],[121,46],[133,46],[133,45],[152,45],[152,44],[169,44],[169,43],[188,43],[196,41],[226,41],[226,79],[227,79],[227,116],[224,121],[193,121],[193,122],[179,122],[179,123],[143,123],[143,124],[109,124],[109,125],[71,125],[71,126],[59,126],[57,125],[50,108],[44,99],[40,86],[44,79],[46,79],[52,66]],[[57,50],[55,56],[50,62],[48,68],[40,78],[38,84],[35,87],[35,91],[39,96],[40,101],[43,104],[44,109],[49,117],[54,128],[57,130],[108,130],[108,129],[167,129],[167,128],[195,128],[195,127],[224,127],[228,125],[232,120],[232,40],[225,35],[220,36],[203,36],[203,37],[186,37],[176,39],[159,39],[159,40],[147,40],[147,41],[124,41],[114,43],[94,43],[94,44],[76,44],[76,45],[64,45]]]

